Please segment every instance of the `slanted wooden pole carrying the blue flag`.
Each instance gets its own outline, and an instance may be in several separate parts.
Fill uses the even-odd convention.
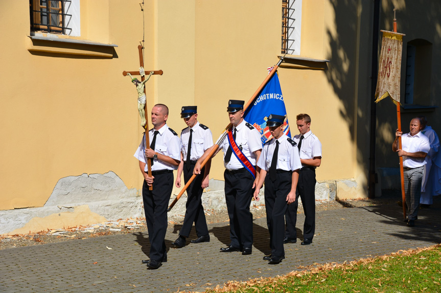
[[[262,89],[265,87],[265,85],[268,83],[268,81],[271,79],[271,77],[275,74],[278,66],[283,62],[283,57],[277,62],[277,64],[271,69],[271,71],[268,73],[268,76],[264,79],[263,83],[260,85],[260,87],[254,92],[254,94],[251,96],[251,98],[248,100],[248,102],[244,105],[243,111],[248,108],[248,106],[254,101],[254,99],[259,95],[259,93],[262,91]],[[225,129],[222,131],[221,137],[217,140],[216,144],[212,147],[212,150],[210,153],[208,153],[208,156],[204,159],[204,161],[201,163],[201,169],[205,166],[205,164],[208,162],[209,159],[213,156],[213,154],[217,151],[219,148],[219,144],[222,143],[222,141],[225,139],[228,129],[231,127],[231,123],[229,123]],[[203,174],[202,174],[203,175]],[[176,202],[181,198],[182,194],[187,190],[187,188],[190,186],[190,184],[193,182],[193,180],[196,178],[197,175],[193,174],[193,176],[190,178],[190,180],[187,182],[187,184],[184,185],[182,190],[179,192],[179,194],[176,196],[176,198],[173,200],[173,202],[170,204],[169,209],[167,211],[170,211],[173,206],[176,204]]]

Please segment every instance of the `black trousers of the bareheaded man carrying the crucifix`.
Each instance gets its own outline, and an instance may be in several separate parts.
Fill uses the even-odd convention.
[[[150,241],[150,259],[162,261],[166,254],[167,208],[172,195],[173,173],[154,175],[153,190],[143,184],[144,212]]]

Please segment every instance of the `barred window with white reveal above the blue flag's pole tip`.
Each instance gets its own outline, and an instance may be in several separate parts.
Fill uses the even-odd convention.
[[[282,54],[300,55],[301,0],[282,0]]]

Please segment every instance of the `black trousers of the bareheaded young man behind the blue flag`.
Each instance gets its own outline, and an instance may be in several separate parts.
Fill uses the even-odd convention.
[[[305,212],[305,224],[303,225],[303,237],[312,239],[315,233],[315,169],[301,168],[298,175],[295,202],[288,205],[285,215],[285,236],[297,238],[295,224],[297,222],[298,197],[300,196]]]

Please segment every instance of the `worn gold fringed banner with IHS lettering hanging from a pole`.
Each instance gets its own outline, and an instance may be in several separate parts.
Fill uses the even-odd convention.
[[[393,103],[397,104],[400,103],[401,52],[405,35],[388,31],[381,32],[383,32],[383,39],[375,102],[378,103],[390,96]]]

